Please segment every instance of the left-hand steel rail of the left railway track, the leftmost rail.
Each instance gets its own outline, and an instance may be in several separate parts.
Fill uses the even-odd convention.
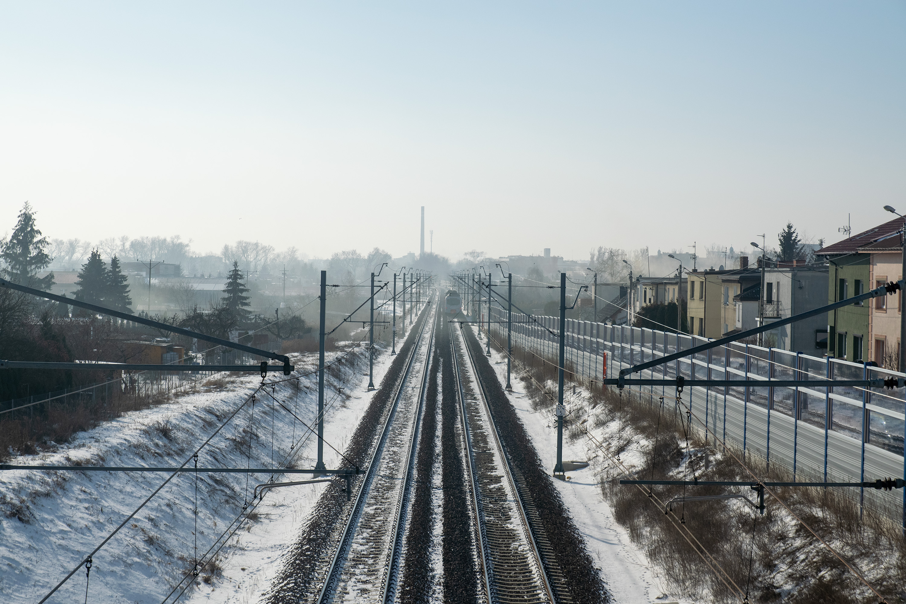
[[[358,493],[356,493],[355,495],[355,502],[352,503],[352,510],[350,511],[349,516],[346,518],[346,523],[343,526],[340,542],[337,544],[336,551],[333,552],[333,559],[327,569],[327,574],[324,579],[323,585],[321,586],[321,590],[319,590],[318,592],[318,598],[315,600],[316,602],[318,602],[318,604],[326,604],[326,602],[331,601],[333,599],[333,596],[336,594],[337,583],[340,581],[340,573],[342,571],[343,562],[347,558],[348,552],[352,547],[352,538],[355,536],[354,526],[357,524],[358,519],[361,517],[362,508],[365,505],[365,500],[368,498],[368,494],[371,491],[371,483],[374,480],[374,476],[377,474],[377,466],[380,465],[380,459],[383,453],[384,445],[386,444],[387,437],[390,435],[390,425],[393,423],[394,417],[396,417],[397,407],[399,407],[404,387],[407,380],[409,379],[412,366],[415,363],[415,358],[416,356],[418,356],[421,338],[424,333],[425,325],[422,324],[421,331],[419,331],[419,337],[413,343],[412,350],[410,350],[409,359],[406,360],[406,369],[403,371],[402,376],[400,377],[400,381],[397,384],[396,392],[393,395],[393,404],[390,406],[387,417],[384,419],[383,426],[381,427],[381,435],[378,436],[377,445],[374,447],[374,452],[371,454],[371,460],[368,464],[368,469],[366,470],[364,478],[359,484]]]

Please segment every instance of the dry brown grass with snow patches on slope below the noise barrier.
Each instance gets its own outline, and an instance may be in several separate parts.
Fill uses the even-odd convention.
[[[530,353],[522,350],[515,350],[514,356],[516,360],[525,356],[528,361],[519,369],[533,404],[551,405],[545,390],[550,392],[548,380],[556,377],[552,367],[547,365],[545,370],[540,358],[535,356],[533,360]],[[573,412],[572,423],[566,426],[567,436],[580,438],[585,427],[596,429],[614,421],[622,422],[622,429],[612,431],[613,436],[605,446],[616,456],[637,446],[633,443],[640,439],[648,443],[645,462],[636,468],[639,477],[682,479],[682,468],[686,467],[689,479],[692,474],[703,480],[751,479],[732,455],[715,450],[713,442],[705,446],[692,436],[687,449],[682,429],[684,414],[674,411],[672,401],[668,400],[661,411],[657,398],[653,401],[649,397],[640,398],[628,389],[622,396],[615,388],[591,386],[588,389],[591,394],[586,395],[583,405]],[[556,395],[555,382],[553,394]],[[652,447],[656,435],[657,446]],[[738,453],[737,457],[741,459]],[[772,463],[769,473],[763,459],[747,455],[746,464],[762,480],[792,480],[791,473],[776,463]],[[605,470],[602,495],[611,505],[615,520],[628,530],[632,542],[654,565],[661,586],[672,593],[699,601],[739,601],[735,589],[728,589],[724,584],[726,580],[730,586],[735,582],[742,591],[748,590],[749,601],[753,603],[877,601],[853,571],[770,495],[766,495],[764,516],[741,500],[711,500],[688,502],[685,508],[680,503],[674,504],[676,516],[673,517],[664,513],[664,508],[649,496],[647,489],[619,484],[621,475],[619,467]],[[738,487],[699,486],[694,493],[744,491],[747,490]],[[906,602],[906,540],[899,524],[891,520],[896,514],[869,507],[860,513],[857,499],[840,489],[787,487],[775,492],[796,516],[860,570],[887,602]],[[655,486],[653,493],[661,502],[683,494],[682,487],[671,486]],[[690,494],[689,489],[686,494]],[[753,493],[746,494],[755,499]],[[690,545],[670,523],[671,517],[678,524],[680,519],[685,521],[680,526],[688,528],[700,545]],[[709,570],[699,551],[708,551],[728,578],[721,580]]]

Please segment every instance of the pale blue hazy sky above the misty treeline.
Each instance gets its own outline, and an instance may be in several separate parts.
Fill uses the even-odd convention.
[[[587,257],[906,210],[906,3],[0,5],[0,234]],[[427,239],[427,234],[426,234]]]

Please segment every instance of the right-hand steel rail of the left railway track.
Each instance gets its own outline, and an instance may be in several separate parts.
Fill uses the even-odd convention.
[[[440,296],[438,296],[438,308]],[[421,418],[425,407],[425,394],[428,390],[428,377],[431,366],[431,350],[434,347],[434,333],[437,329],[437,318],[431,321],[431,332],[428,338],[428,348],[425,350],[425,368],[422,371],[421,384],[419,385],[419,406],[415,412],[415,423],[410,431],[409,443],[406,446],[406,470],[402,478],[402,486],[397,496],[396,511],[393,514],[393,528],[390,540],[390,555],[388,566],[381,581],[381,602],[390,604],[396,597],[399,584],[400,561],[402,560],[402,538],[406,528],[406,512],[410,500],[412,476],[415,474],[415,453],[418,448],[419,434],[421,432]]]

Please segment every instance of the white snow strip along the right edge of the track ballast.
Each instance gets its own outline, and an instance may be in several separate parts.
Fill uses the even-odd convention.
[[[483,339],[484,334],[479,338]],[[492,348],[490,360],[500,383],[506,385],[506,356]],[[553,472],[557,450],[554,411],[535,411],[532,408],[522,382],[517,379],[515,363],[510,382],[513,386],[510,401],[535,443],[542,462]],[[582,388],[576,387],[576,393],[581,397]],[[615,431],[618,427],[608,426],[603,429]],[[599,439],[602,437],[600,434],[596,436]],[[637,452],[640,449],[644,449],[644,444],[635,447]],[[569,481],[554,480],[554,486],[560,491],[576,528],[582,532],[613,601],[617,604],[666,604],[680,601],[660,589],[645,554],[631,542],[629,532],[613,519],[611,507],[604,501],[599,486],[599,477],[605,472],[607,465],[602,460],[602,455],[588,443],[588,439],[579,438],[571,443],[565,434],[563,455],[564,461],[591,462],[584,470],[568,472],[567,475],[571,477]],[[622,461],[630,466],[633,465],[631,455],[622,455]],[[639,459],[635,461],[641,462],[641,454],[638,455]]]

